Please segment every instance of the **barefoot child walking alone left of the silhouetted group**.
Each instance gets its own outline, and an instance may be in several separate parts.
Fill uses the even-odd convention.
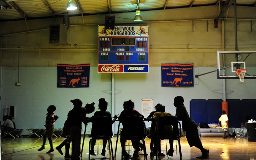
[[[56,110],[56,107],[54,105],[50,105],[47,108],[47,114],[46,114],[46,124],[44,125],[46,127],[46,133],[43,135],[43,145],[41,148],[38,149],[38,151],[41,151],[44,149],[44,145],[46,143],[46,137],[48,137],[49,144],[50,144],[50,150],[46,153],[51,153],[54,151],[53,144],[52,144],[52,136],[53,136],[53,130],[54,130],[54,124],[55,121],[59,118],[56,114],[53,112]]]

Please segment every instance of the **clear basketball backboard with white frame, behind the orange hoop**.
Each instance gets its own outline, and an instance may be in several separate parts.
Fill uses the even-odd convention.
[[[246,69],[245,79],[256,79],[256,51],[218,51],[217,79],[239,79],[235,69]]]

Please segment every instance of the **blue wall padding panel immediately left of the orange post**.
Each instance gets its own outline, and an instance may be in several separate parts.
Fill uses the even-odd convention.
[[[222,115],[222,100],[207,100],[207,122],[218,123]]]

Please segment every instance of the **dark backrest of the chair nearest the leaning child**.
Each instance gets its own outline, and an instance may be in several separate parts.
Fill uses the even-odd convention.
[[[169,130],[166,130],[170,128],[170,126],[172,127],[172,135],[170,134]],[[172,137],[174,139],[181,137],[181,125],[180,122],[178,122],[178,118],[175,116],[159,117],[158,137]]]

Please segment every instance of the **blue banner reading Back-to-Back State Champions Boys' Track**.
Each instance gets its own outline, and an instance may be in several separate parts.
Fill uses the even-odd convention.
[[[57,64],[57,87],[89,87],[90,64]]]

